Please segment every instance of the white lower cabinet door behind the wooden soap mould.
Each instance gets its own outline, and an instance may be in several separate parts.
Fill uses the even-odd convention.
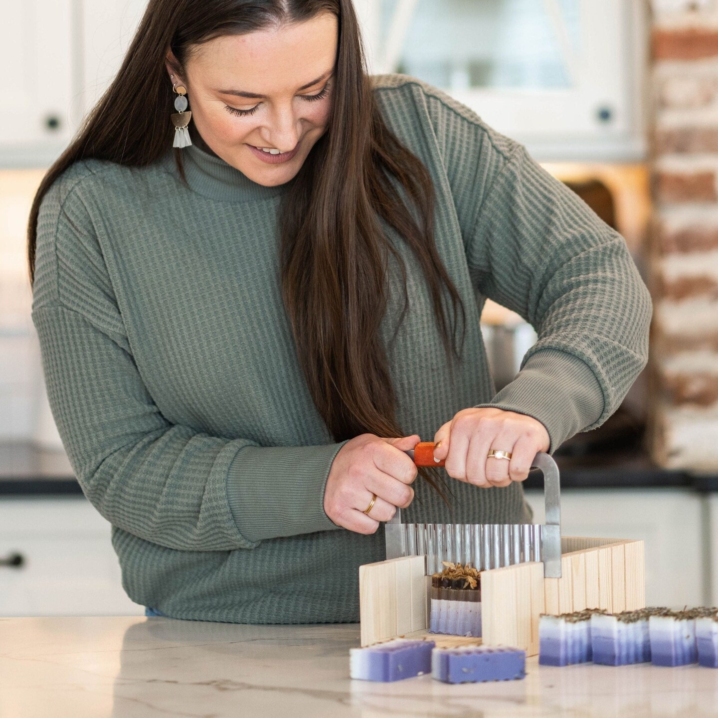
[[[544,494],[526,491],[535,523],[544,521]],[[561,534],[645,541],[649,606],[701,606],[706,595],[701,495],[679,489],[567,490],[561,493]]]

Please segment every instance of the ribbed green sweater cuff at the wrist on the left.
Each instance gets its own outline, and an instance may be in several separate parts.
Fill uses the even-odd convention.
[[[227,498],[249,541],[340,528],[324,510],[334,457],[349,441],[311,447],[240,449],[228,470]]]

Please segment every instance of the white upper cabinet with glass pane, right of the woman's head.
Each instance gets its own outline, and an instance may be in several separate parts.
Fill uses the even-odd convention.
[[[446,90],[539,161],[645,158],[648,7],[355,0],[370,71]]]

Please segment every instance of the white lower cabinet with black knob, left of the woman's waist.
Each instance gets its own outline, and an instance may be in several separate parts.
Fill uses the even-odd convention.
[[[143,614],[122,588],[110,524],[83,496],[0,501],[0,616]]]

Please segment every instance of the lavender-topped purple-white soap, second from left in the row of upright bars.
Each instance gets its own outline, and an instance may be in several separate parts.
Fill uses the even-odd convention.
[[[603,666],[627,666],[651,661],[648,619],[666,608],[643,608],[591,617],[593,662]]]

